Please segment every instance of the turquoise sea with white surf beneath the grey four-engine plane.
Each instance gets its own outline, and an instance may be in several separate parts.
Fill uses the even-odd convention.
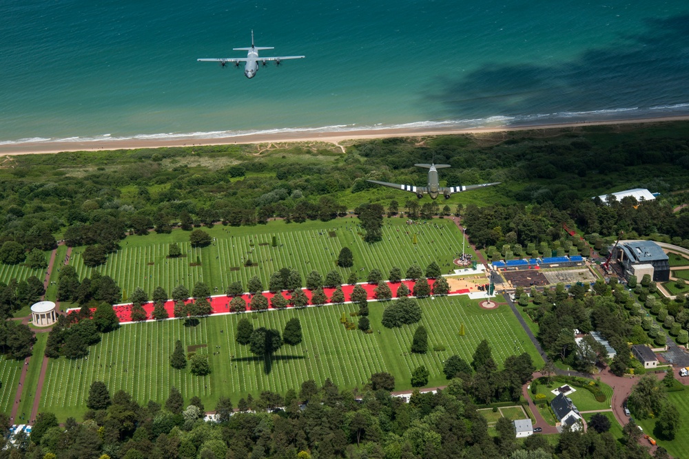
[[[307,58],[196,62],[251,29]],[[687,37],[686,0],[3,0],[0,142],[689,114]]]

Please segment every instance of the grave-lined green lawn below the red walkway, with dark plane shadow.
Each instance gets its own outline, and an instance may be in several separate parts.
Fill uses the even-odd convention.
[[[61,420],[68,416],[79,418],[85,410],[89,385],[96,380],[104,381],[111,394],[125,389],[140,403],[150,399],[164,401],[169,387],[174,385],[187,399],[199,396],[209,409],[220,395],[230,396],[236,403],[249,393],[257,396],[263,390],[284,393],[289,388],[298,389],[307,379],[322,384],[325,378],[331,378],[340,387],[360,387],[371,374],[380,371],[395,376],[395,389],[411,389],[411,372],[418,365],[429,369],[428,386],[433,387],[446,384],[442,374],[445,359],[457,354],[471,361],[477,344],[484,338],[489,339],[499,365],[507,356],[525,350],[536,367],[543,364],[505,306],[484,310],[464,296],[424,299],[420,303],[430,347],[442,344],[446,351],[411,354],[415,325],[394,330],[382,328],[383,303],[369,303],[374,330],[371,334],[346,331],[340,324],[342,312],[356,309],[351,305],[215,316],[203,319],[196,327],[185,327],[176,320],[124,325],[103,335],[101,343],[90,349],[88,360],[50,361],[41,410],[54,412]],[[271,372],[265,374],[264,362],[254,359],[248,348],[234,341],[240,317],[252,319],[256,327],[265,325],[280,331],[287,320],[298,317],[305,339],[300,345],[278,351],[269,363]],[[464,337],[458,335],[460,323],[466,328]],[[187,370],[172,369],[168,359],[176,339],[181,339],[185,346],[207,345],[197,352],[209,354],[212,374],[197,377]],[[214,352],[220,354],[213,355]]]

